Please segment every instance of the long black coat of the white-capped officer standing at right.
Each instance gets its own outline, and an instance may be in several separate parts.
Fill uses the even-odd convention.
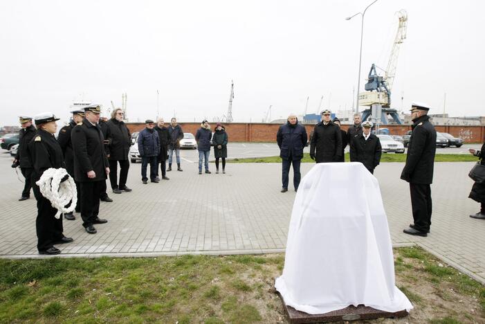
[[[408,156],[401,179],[409,183],[430,184],[433,181],[436,130],[428,115],[421,116],[412,125]]]

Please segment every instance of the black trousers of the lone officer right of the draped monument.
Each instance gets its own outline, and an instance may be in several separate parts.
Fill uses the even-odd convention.
[[[410,183],[412,218],[414,228],[427,232],[431,226],[431,187],[429,184]]]

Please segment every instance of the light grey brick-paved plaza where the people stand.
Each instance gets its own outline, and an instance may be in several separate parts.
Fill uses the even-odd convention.
[[[32,197],[17,201],[23,183],[0,154],[0,256],[39,258],[36,205]],[[471,219],[479,204],[468,199],[473,163],[437,163],[432,185],[433,217],[428,237],[402,233],[412,222],[408,183],[399,180],[402,163],[376,169],[390,224],[392,242],[419,244],[485,283],[485,221]],[[280,193],[279,164],[232,164],[227,174],[197,174],[196,164],[168,172],[170,181],[140,181],[140,164],[132,164],[128,186],[133,192],[109,193],[100,217],[108,224],[89,235],[75,221],[64,220],[64,233],[75,242],[59,246],[62,257],[98,255],[177,255],[181,253],[283,252],[295,192]],[[313,163],[303,163],[306,173]],[[214,164],[210,168],[214,171]],[[21,177],[21,174],[20,174]]]

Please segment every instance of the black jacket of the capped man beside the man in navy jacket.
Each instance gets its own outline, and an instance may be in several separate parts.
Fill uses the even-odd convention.
[[[316,151],[316,152],[315,152]],[[315,125],[310,142],[310,156],[315,156],[317,163],[338,162],[342,155],[342,134],[340,127],[330,121]]]

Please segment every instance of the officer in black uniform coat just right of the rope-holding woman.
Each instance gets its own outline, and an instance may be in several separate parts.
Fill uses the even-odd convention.
[[[74,179],[81,188],[81,217],[84,228],[89,234],[97,233],[94,224],[108,221],[100,219],[100,192],[106,183],[109,163],[104,152],[104,137],[98,125],[101,107],[84,107],[84,120],[71,132],[74,150]]]

